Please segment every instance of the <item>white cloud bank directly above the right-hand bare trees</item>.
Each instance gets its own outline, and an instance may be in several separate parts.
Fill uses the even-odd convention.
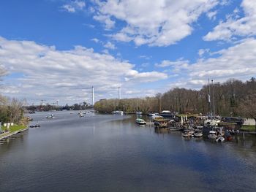
[[[238,45],[217,52],[219,56],[214,58],[199,59],[195,64],[187,67],[176,64],[176,72],[181,79],[172,83],[173,86],[187,88],[201,88],[207,83],[208,78],[215,82],[224,82],[230,78],[249,80],[256,74],[256,39],[244,39]]]

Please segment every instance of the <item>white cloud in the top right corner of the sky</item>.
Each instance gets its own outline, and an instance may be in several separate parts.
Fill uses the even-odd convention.
[[[230,41],[239,37],[252,37],[256,35],[256,1],[244,0],[241,3],[244,17],[239,18],[238,9],[226,21],[221,21],[213,31],[203,37],[206,41],[224,40]],[[233,17],[232,17],[233,16]]]

